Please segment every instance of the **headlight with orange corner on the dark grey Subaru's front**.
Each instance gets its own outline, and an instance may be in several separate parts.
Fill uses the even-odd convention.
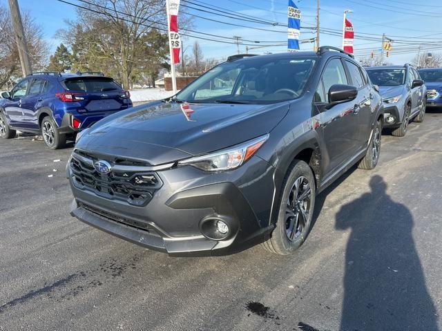
[[[243,142],[236,146],[222,149],[215,153],[210,153],[196,158],[189,158],[178,162],[179,166],[191,165],[203,171],[224,171],[240,167],[251,158],[260,146],[269,139],[269,134]]]

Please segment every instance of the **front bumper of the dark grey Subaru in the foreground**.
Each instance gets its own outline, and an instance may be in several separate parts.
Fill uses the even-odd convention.
[[[75,197],[70,214],[142,247],[179,256],[238,252],[262,242],[273,229],[273,167],[258,157],[228,173],[187,166],[157,175],[162,187],[146,205],[135,206],[79,187],[68,167]],[[201,225],[208,218],[226,221],[232,233],[224,240],[207,238]]]

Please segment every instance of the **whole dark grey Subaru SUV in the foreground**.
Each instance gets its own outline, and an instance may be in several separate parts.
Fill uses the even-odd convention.
[[[381,96],[343,50],[236,58],[80,133],[71,215],[169,254],[290,254],[316,194],[376,167],[382,126]]]

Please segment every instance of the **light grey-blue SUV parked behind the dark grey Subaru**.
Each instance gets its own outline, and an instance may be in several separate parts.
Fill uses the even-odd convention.
[[[423,122],[427,88],[411,64],[365,68],[372,83],[379,86],[385,107],[385,127],[403,137],[410,120]]]

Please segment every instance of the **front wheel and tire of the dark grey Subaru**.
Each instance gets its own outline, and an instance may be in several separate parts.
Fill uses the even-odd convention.
[[[287,171],[281,190],[276,227],[262,246],[269,252],[289,255],[304,243],[311,227],[316,184],[309,165],[295,160]]]

